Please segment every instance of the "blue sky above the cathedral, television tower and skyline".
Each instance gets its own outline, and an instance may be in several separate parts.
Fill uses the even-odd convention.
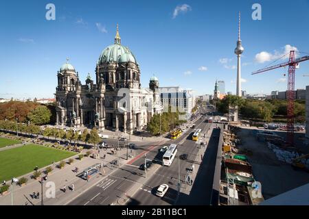
[[[56,5],[56,21],[45,6]],[[253,3],[262,20],[253,21]],[[248,93],[286,90],[287,68],[261,75],[289,48],[309,53],[309,1],[1,1],[0,98],[54,97],[56,73],[69,62],[84,81],[95,76],[102,50],[113,44],[116,24],[122,44],[141,67],[141,84],[152,75],[160,86],[192,88],[212,94],[216,79],[236,92],[238,11],[242,13],[242,89]],[[290,45],[290,46],[287,46]],[[303,53],[300,56],[306,55]],[[283,62],[282,60],[279,62]],[[276,63],[279,63],[276,62]],[[295,88],[308,85],[309,61],[297,70]]]

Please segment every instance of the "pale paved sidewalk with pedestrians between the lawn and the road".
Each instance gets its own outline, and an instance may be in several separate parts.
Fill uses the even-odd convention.
[[[82,194],[83,192],[90,189],[93,185],[98,183],[100,180],[104,179],[106,175],[111,174],[111,172],[117,170],[117,168],[113,168],[109,162],[111,162],[114,159],[118,159],[119,153],[116,155],[111,155],[111,149],[108,149],[107,151],[100,150],[100,157],[102,157],[104,154],[106,154],[106,158],[103,159],[93,159],[92,157],[84,157],[81,161],[78,159],[75,159],[73,164],[69,165],[66,164],[65,168],[62,170],[56,168],[56,166],[53,166],[54,170],[49,174],[47,177],[47,181],[44,181],[43,184],[43,202],[44,205],[65,205],[69,201],[76,198],[78,195]],[[78,157],[78,156],[76,156]],[[126,150],[120,151],[120,164],[119,166],[124,165],[126,161]],[[80,174],[82,170],[88,168],[89,166],[92,166],[93,164],[103,164],[105,167],[101,169],[101,172],[94,175],[89,181],[87,182],[84,179],[81,179],[80,177],[77,177],[76,175]],[[102,165],[102,166],[103,166]],[[78,168],[79,171],[76,174],[73,172],[75,168]],[[46,167],[45,167],[46,168]],[[45,170],[45,168],[41,169],[41,171]],[[13,201],[14,205],[41,205],[41,179],[35,180],[30,179],[30,176],[32,173],[26,175],[29,179],[27,185],[20,187],[19,185],[13,186],[14,192],[13,192]],[[41,175],[43,177],[45,175]],[[48,182],[54,182],[54,185],[56,186],[56,198],[47,198],[45,196],[45,191],[48,189],[46,188],[46,184]],[[62,192],[60,189],[62,189],[64,186],[71,186],[72,183],[74,184],[75,190],[71,191],[69,188],[67,188],[67,192]],[[10,190],[12,190],[12,185],[10,186]],[[30,196],[33,192],[39,192],[40,198],[39,199],[32,199]],[[11,191],[6,194],[5,196],[0,196],[0,205],[11,205]]]

